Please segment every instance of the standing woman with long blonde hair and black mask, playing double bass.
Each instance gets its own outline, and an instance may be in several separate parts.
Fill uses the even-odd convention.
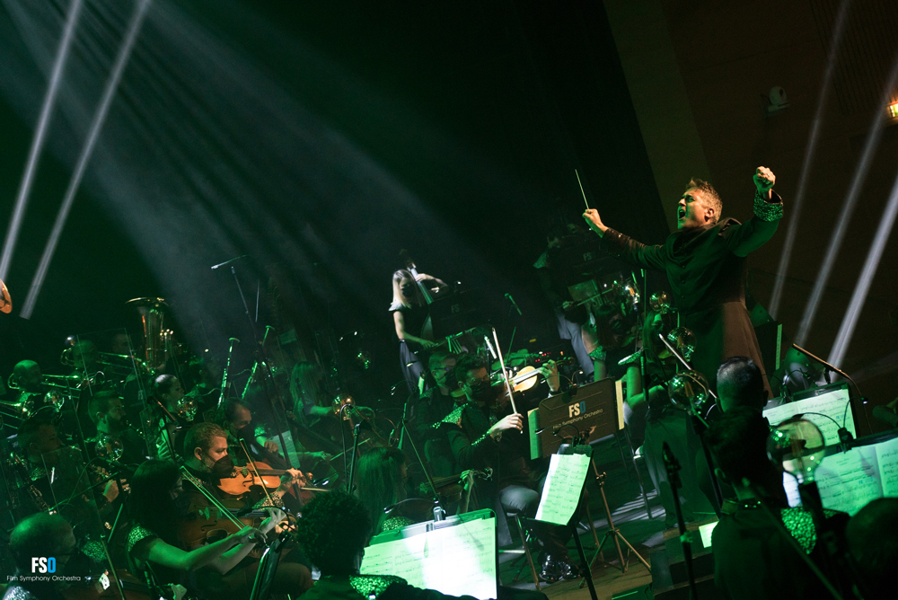
[[[446,287],[443,281],[424,273],[418,273],[417,279],[407,269],[393,273],[390,312],[393,315],[396,337],[400,342],[400,366],[409,394],[418,392],[418,379],[424,373],[424,364],[418,357],[418,351],[436,346],[430,311],[422,288],[430,296],[434,296]]]

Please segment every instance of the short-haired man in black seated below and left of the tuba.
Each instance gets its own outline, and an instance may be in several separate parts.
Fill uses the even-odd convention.
[[[113,448],[121,447],[121,456],[115,459],[121,464],[137,465],[146,460],[146,443],[144,438],[128,425],[125,407],[119,395],[112,391],[93,394],[88,403],[88,414],[97,427],[97,435],[87,440],[87,450],[91,456],[97,455],[99,444],[103,446],[103,454],[108,460]]]

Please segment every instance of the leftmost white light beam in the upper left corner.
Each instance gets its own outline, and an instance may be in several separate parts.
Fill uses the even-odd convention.
[[[44,140],[47,137],[50,116],[53,113],[53,106],[56,103],[59,90],[59,81],[62,79],[69,48],[72,45],[72,39],[75,37],[75,25],[78,22],[78,17],[81,15],[81,5],[82,0],[72,1],[66,17],[66,26],[63,29],[62,39],[59,40],[56,58],[53,61],[53,68],[50,71],[47,93],[44,94],[44,101],[40,107],[38,127],[35,129],[34,137],[31,139],[31,150],[28,153],[28,161],[25,163],[25,172],[22,173],[22,182],[19,184],[19,192],[15,197],[13,214],[10,216],[9,226],[6,228],[3,255],[0,256],[0,279],[3,280],[9,274],[10,264],[13,262],[13,250],[15,250],[15,244],[19,240],[19,232],[22,230],[22,221],[25,218],[25,210],[28,207],[31,184],[34,182],[34,173],[37,172],[38,163],[40,163],[40,151],[43,149]]]

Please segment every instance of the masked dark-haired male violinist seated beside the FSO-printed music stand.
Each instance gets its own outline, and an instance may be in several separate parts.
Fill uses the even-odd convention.
[[[559,391],[559,375],[554,365],[547,371],[550,393]],[[506,511],[535,516],[540,505],[540,490],[544,477],[537,477],[528,468],[519,450],[524,428],[520,414],[502,412],[498,401],[505,394],[501,385],[491,386],[487,367],[478,357],[463,355],[455,365],[455,375],[467,402],[453,410],[441,423],[452,448],[455,463],[461,469],[490,467],[494,470],[497,499]],[[546,581],[575,577],[565,547],[570,532],[565,527],[533,521],[534,533],[544,548],[541,577]]]

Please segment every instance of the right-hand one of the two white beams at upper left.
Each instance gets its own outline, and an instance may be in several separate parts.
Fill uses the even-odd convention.
[[[40,264],[38,265],[37,271],[34,273],[34,278],[31,279],[31,287],[28,290],[28,296],[22,304],[22,313],[20,316],[22,316],[23,319],[31,318],[31,313],[34,311],[34,304],[37,302],[38,294],[40,294],[40,287],[43,286],[44,278],[47,276],[47,269],[49,268],[50,261],[53,259],[53,254],[56,251],[59,237],[62,235],[62,230],[66,226],[66,219],[72,209],[72,203],[75,201],[75,194],[81,185],[84,171],[87,169],[87,164],[91,160],[93,147],[96,145],[97,138],[100,137],[103,122],[106,120],[106,114],[109,112],[112,98],[115,96],[115,92],[119,87],[121,75],[125,71],[125,66],[128,64],[128,57],[131,55],[131,49],[134,48],[137,33],[140,31],[140,25],[144,21],[144,16],[150,2],[151,0],[139,0],[137,3],[134,16],[131,18],[130,25],[128,26],[128,34],[119,49],[119,56],[116,57],[116,62],[112,67],[112,72],[106,82],[100,105],[93,115],[91,127],[88,129],[87,138],[84,141],[81,155],[78,157],[78,161],[75,165],[75,172],[72,173],[72,178],[68,182],[66,195],[63,198],[62,206],[59,207],[56,221],[53,224],[53,230],[50,232],[47,245],[44,247],[44,252],[40,257]]]

